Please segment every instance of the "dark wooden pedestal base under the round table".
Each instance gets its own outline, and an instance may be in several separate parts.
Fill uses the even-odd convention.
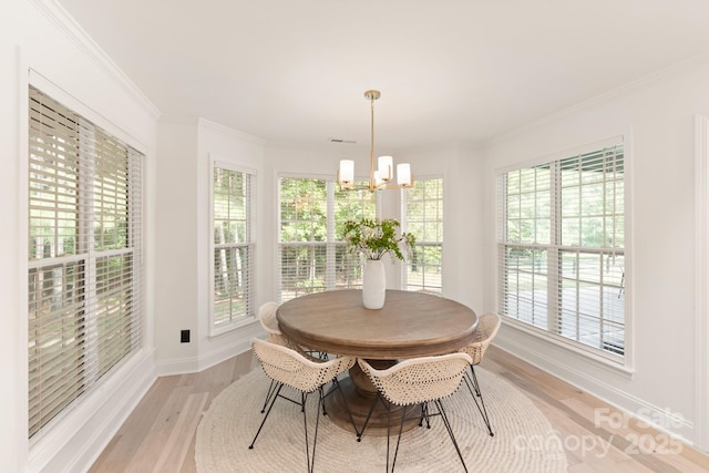
[[[370,361],[370,363],[377,369],[384,369],[388,366],[392,366],[395,361]],[[340,388],[342,394],[347,400],[347,405],[352,413],[354,424],[357,429],[361,430],[367,420],[367,414],[377,398],[377,388],[371,383],[367,374],[362,372],[359,364],[354,364],[350,369],[350,376],[340,380]],[[342,398],[333,392],[328,395],[325,401],[328,417],[336,423],[348,431],[352,430],[350,418],[347,413],[346,407],[342,404]],[[403,413],[403,407],[393,405],[391,410],[391,434],[399,434],[399,425],[401,424],[401,415]],[[407,409],[407,418],[413,418],[405,420],[403,424],[403,431],[408,431],[419,425],[419,415],[421,413],[420,408]],[[383,436],[387,435],[387,408],[381,402],[377,401],[377,407],[372,412],[369,423],[367,424],[366,435]]]

